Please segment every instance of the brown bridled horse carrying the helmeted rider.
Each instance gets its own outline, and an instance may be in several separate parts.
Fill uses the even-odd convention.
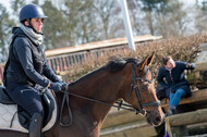
[[[53,127],[45,132],[44,136],[98,137],[107,114],[119,99],[131,104],[134,112],[146,116],[150,125],[160,125],[163,112],[156,97],[153,74],[148,67],[154,55],[146,57],[142,62],[135,59],[115,59],[70,84],[68,90],[57,92],[58,117],[61,119],[57,119]],[[64,105],[61,113],[60,108],[64,97],[69,97],[70,109]],[[0,136],[27,137],[28,135],[0,130]]]

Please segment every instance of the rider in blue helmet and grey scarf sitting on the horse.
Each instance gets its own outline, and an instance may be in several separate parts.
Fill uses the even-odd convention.
[[[45,15],[37,4],[26,4],[20,11],[20,27],[14,27],[3,84],[12,100],[26,110],[32,120],[29,137],[42,136],[44,108],[38,86],[60,91],[61,82],[46,59],[42,42]]]

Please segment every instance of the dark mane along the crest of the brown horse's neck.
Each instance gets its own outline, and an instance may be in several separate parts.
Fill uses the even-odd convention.
[[[92,74],[95,74],[95,73],[98,73],[102,70],[108,70],[109,72],[111,73],[114,73],[114,72],[119,72],[121,71],[127,63],[138,63],[138,61],[136,59],[133,59],[133,58],[126,58],[126,59],[123,59],[123,58],[112,58],[106,65],[97,68],[97,70],[94,70],[93,72],[89,72],[87,73],[86,75],[80,77],[77,80],[71,83],[71,85],[80,82],[81,79],[84,79],[88,76],[90,76]]]

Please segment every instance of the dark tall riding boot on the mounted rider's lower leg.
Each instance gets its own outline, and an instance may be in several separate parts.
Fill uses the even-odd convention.
[[[28,126],[29,137],[42,137],[42,116],[39,113],[35,113]]]

